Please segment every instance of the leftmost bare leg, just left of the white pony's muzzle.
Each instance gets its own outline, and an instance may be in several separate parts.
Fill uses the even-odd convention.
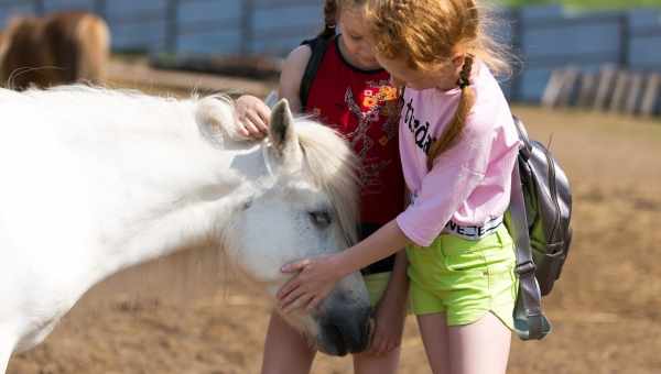
[[[316,351],[299,331],[271,312],[264,342],[262,374],[307,374]]]

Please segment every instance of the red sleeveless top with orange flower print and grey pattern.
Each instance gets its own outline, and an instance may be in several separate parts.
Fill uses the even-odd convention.
[[[398,150],[400,108],[384,69],[361,70],[328,43],[307,97],[306,112],[342,133],[361,167],[360,221],[384,224],[403,210],[404,179]]]

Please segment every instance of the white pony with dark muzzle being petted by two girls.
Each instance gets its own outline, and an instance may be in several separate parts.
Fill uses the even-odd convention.
[[[0,373],[129,266],[210,245],[273,298],[284,263],[355,234],[350,150],[286,101],[263,142],[238,139],[219,96],[0,90]],[[330,354],[365,349],[368,319],[358,274],[289,318]]]

